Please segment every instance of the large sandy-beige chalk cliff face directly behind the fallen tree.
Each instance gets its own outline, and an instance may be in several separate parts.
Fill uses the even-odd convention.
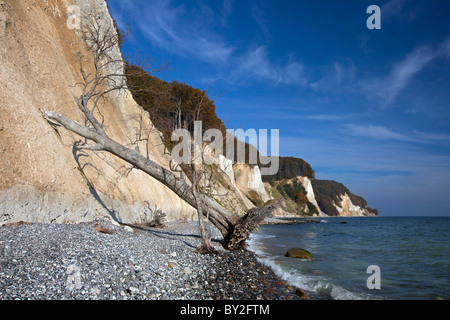
[[[80,60],[91,56],[75,30],[67,27],[66,0],[0,0],[0,224],[91,221],[114,217],[139,221],[147,204],[173,220],[195,210],[167,187],[107,153],[77,151],[81,138],[56,132],[39,108],[84,122],[74,97],[80,96]],[[113,24],[104,0],[80,0],[85,12]],[[114,30],[114,28],[112,28]],[[120,50],[115,49],[120,56]],[[88,70],[89,71],[89,70]],[[152,123],[130,93],[111,95],[101,112],[108,134],[139,148],[138,129]],[[139,119],[139,120],[136,120]],[[161,138],[152,130],[151,158],[168,168]]]

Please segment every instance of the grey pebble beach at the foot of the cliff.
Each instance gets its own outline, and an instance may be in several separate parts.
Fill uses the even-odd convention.
[[[167,226],[1,227],[0,300],[302,300],[255,253],[225,251],[213,227],[217,255],[193,252],[200,244],[197,222]]]

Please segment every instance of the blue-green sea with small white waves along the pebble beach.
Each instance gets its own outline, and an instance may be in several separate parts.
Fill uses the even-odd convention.
[[[314,220],[261,226],[249,249],[318,299],[450,299],[450,217]],[[315,260],[287,258],[290,248],[306,249]]]

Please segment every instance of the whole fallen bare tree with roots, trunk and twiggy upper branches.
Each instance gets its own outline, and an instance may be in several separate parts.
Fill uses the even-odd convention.
[[[128,90],[124,61],[114,55],[121,38],[114,26],[105,26],[101,20],[93,19],[90,14],[85,14],[82,18],[83,39],[92,52],[91,67],[94,70],[89,73],[81,64],[83,81],[77,84],[81,86],[82,93],[76,103],[86,118],[86,125],[52,111],[41,110],[43,117],[53,127],[62,126],[85,138],[86,141],[93,142],[85,143],[80,146],[81,149],[109,152],[163,183],[208,218],[223,235],[225,249],[239,249],[250,233],[266,217],[272,215],[278,204],[269,203],[261,208],[253,208],[244,216],[236,218],[206,194],[196,192],[195,188],[193,189],[185,179],[178,177],[174,172],[141,155],[137,150],[113,140],[96,118],[96,114],[99,114],[98,108],[109,93]]]

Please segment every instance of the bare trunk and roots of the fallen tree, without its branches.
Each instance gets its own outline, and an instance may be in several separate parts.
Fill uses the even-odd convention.
[[[225,249],[239,249],[241,244],[249,237],[250,233],[258,227],[264,218],[271,215],[278,207],[275,203],[269,203],[262,208],[253,208],[245,216],[235,221],[232,215],[215,200],[202,193],[193,192],[192,187],[184,179],[177,177],[173,172],[164,169],[156,162],[142,156],[136,150],[129,149],[110,139],[106,134],[103,134],[104,131],[100,134],[94,129],[82,126],[78,122],[55,112],[44,110],[41,110],[41,112],[43,117],[51,125],[62,126],[81,137],[96,142],[96,145],[84,146],[85,149],[106,151],[114,154],[163,183],[181,199],[199,210],[201,214],[207,217],[219,229],[224,238],[223,246]],[[194,194],[197,194],[197,199]],[[203,204],[204,207],[199,204]],[[200,217],[199,220],[201,220]]]

